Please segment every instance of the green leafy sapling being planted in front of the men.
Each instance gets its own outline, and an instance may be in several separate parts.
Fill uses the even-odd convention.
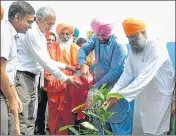
[[[123,98],[120,94],[109,94],[110,88],[106,88],[106,84],[103,84],[101,88],[98,90],[97,94],[94,96],[93,99],[93,106],[89,109],[85,109],[83,111],[84,114],[86,114],[89,118],[88,121],[82,122],[79,124],[79,128],[81,126],[84,127],[84,129],[79,129],[79,132],[73,128],[72,125],[64,126],[59,129],[65,130],[69,129],[71,130],[75,135],[100,135],[100,132],[98,131],[98,128],[96,128],[92,123],[94,122],[93,119],[95,119],[97,122],[99,122],[100,126],[102,126],[103,131],[105,131],[108,135],[113,135],[112,132],[109,130],[104,129],[105,122],[108,121],[108,119],[114,114],[113,112],[108,112],[106,106],[104,105],[105,100],[108,97],[116,97],[116,98]],[[75,107],[73,111],[78,110],[85,106],[85,104],[79,105]]]

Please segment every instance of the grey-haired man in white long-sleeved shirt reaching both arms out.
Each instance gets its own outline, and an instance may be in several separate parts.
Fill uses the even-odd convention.
[[[50,7],[41,7],[36,13],[36,22],[25,35],[20,35],[18,45],[17,92],[23,103],[20,128],[23,135],[33,135],[35,126],[36,75],[46,69],[57,79],[78,85],[74,78],[60,69],[76,71],[74,67],[52,60],[47,51],[45,33],[55,24],[56,15]]]

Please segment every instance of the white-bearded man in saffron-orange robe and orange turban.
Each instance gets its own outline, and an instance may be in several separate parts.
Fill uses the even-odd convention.
[[[58,43],[48,46],[52,59],[63,62],[67,65],[78,67],[77,48],[72,41],[74,28],[67,24],[59,24],[56,28]],[[63,70],[66,75],[73,75],[73,72]],[[68,130],[59,132],[59,128],[75,124],[75,114],[72,112],[73,105],[71,86],[57,80],[54,76],[45,71],[45,89],[48,94],[49,108],[49,130],[50,134],[68,135]],[[69,89],[70,88],[70,89]],[[73,90],[73,89],[72,89]],[[86,98],[85,98],[86,99]]]

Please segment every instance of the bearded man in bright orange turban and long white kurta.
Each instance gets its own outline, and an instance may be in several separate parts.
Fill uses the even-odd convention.
[[[135,99],[140,122],[135,121],[133,125],[138,123],[142,128],[138,134],[167,134],[174,90],[174,70],[166,44],[159,40],[149,40],[145,31],[146,25],[141,20],[128,18],[123,22],[123,28],[131,51],[124,72],[110,93],[120,93],[128,102]],[[130,82],[133,76],[135,79]],[[109,97],[105,104],[110,107],[118,100]]]

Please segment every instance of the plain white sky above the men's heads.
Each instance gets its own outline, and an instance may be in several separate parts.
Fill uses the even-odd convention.
[[[128,17],[143,20],[147,25],[150,38],[160,38],[166,42],[175,42],[175,1],[28,1],[37,11],[42,6],[53,8],[56,23],[52,29],[56,32],[59,23],[68,23],[80,30],[80,36],[86,38],[91,30],[94,18],[114,24],[114,34],[128,43],[122,28],[122,22]],[[7,20],[8,8],[12,1],[1,1]]]

